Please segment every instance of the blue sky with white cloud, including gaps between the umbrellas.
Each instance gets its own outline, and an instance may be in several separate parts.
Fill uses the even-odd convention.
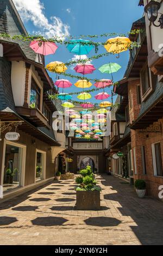
[[[138,0],[14,0],[16,8],[20,13],[24,25],[29,34],[37,31],[43,31],[46,35],[49,29],[54,28],[52,34],[69,33],[74,36],[80,34],[103,34],[103,33],[126,33],[130,31],[132,23],[140,19],[143,14],[143,8],[138,6]],[[53,17],[51,19],[51,17]],[[45,28],[44,28],[45,26]],[[89,39],[89,38],[87,38]],[[108,38],[98,38],[98,41],[106,41]],[[97,39],[96,39],[97,40]],[[99,53],[106,52],[104,47],[99,48]],[[95,50],[92,50],[89,57],[95,55]],[[74,57],[73,53],[69,53],[67,48],[59,45],[57,52],[54,55],[46,57],[46,64],[55,60],[67,62]],[[129,52],[123,52],[120,58],[116,56],[102,57],[98,60],[93,60],[92,64],[97,69],[93,74],[87,75],[90,78],[111,78],[107,74],[101,74],[98,68],[109,62],[116,62],[122,66],[122,69],[114,73],[114,81],[123,78],[127,67]],[[68,73],[78,75],[70,66],[66,71]],[[49,74],[55,81],[56,74]],[[60,78],[65,78],[60,76]],[[72,83],[77,79],[67,78]],[[93,86],[91,87],[93,88]],[[91,89],[90,88],[90,89]],[[75,86],[70,89],[65,89],[65,92],[78,92]],[[111,89],[106,89],[110,93]],[[96,101],[93,96],[99,92],[92,93],[92,102]],[[77,100],[76,96],[73,96]],[[111,98],[108,100],[111,101]]]

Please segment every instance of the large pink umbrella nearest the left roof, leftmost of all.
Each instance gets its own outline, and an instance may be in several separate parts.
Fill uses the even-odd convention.
[[[34,40],[30,43],[30,48],[32,48],[34,52],[46,56],[49,54],[54,54],[58,46],[54,44],[54,42],[41,42]]]

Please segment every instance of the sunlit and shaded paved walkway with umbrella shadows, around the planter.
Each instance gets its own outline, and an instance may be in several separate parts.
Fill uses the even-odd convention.
[[[74,180],[54,181],[0,204],[1,245],[163,245],[163,204],[137,198],[108,175],[100,211],[74,210]]]

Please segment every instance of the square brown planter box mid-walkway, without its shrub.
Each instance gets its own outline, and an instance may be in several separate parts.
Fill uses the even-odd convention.
[[[77,210],[100,210],[100,191],[77,191]]]

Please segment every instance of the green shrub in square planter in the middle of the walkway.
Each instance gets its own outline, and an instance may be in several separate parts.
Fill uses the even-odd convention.
[[[78,187],[77,192],[77,210],[100,210],[100,191],[101,188],[96,186],[96,180],[90,166],[80,170],[76,178]]]

